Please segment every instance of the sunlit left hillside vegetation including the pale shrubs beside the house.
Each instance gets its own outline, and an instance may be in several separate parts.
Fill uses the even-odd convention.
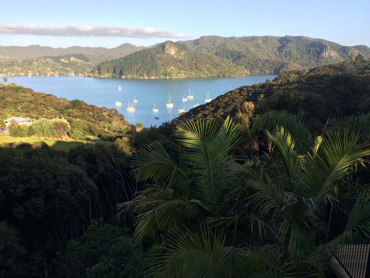
[[[34,135],[83,140],[92,135],[114,140],[135,126],[129,125],[116,109],[87,105],[79,99],[67,100],[50,94],[34,92],[14,83],[0,86],[0,124],[11,116],[36,119],[31,126],[15,125],[11,135]]]

